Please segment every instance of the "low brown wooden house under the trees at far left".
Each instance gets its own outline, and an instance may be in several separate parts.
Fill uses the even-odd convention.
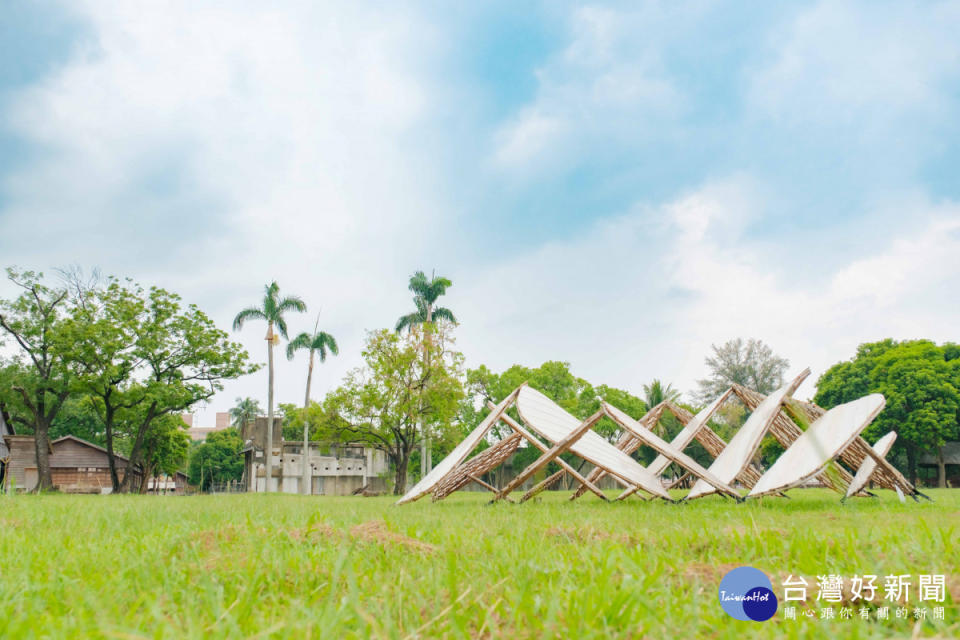
[[[4,491],[11,489],[30,491],[36,488],[37,451],[34,437],[7,435],[3,437],[9,450]],[[128,460],[117,455],[117,470],[123,474]],[[139,467],[134,469],[135,485],[139,483]],[[50,443],[50,475],[53,486],[65,493],[110,493],[110,466],[107,450],[75,436],[64,436]]]

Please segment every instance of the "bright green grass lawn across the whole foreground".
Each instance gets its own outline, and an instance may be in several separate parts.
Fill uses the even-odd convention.
[[[0,637],[957,637],[960,491],[930,494],[0,496]],[[717,586],[744,564],[814,607],[820,574],[946,574],[945,620],[739,622]]]

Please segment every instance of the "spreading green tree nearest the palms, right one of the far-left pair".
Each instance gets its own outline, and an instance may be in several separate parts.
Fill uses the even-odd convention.
[[[79,374],[75,388],[93,399],[104,425],[116,492],[132,490],[135,465],[144,464],[147,433],[158,419],[187,411],[223,389],[223,382],[255,371],[242,347],[196,305],[174,293],[110,278],[88,292],[68,322]],[[118,438],[130,464],[119,475]]]

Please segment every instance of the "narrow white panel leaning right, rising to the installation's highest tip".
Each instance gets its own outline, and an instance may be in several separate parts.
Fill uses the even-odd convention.
[[[740,427],[740,430],[730,439],[726,448],[720,452],[717,459],[710,465],[708,469],[710,473],[728,484],[732,483],[736,477],[740,475],[740,472],[750,464],[750,460],[757,452],[757,447],[760,446],[760,441],[763,440],[764,434],[767,433],[767,429],[770,428],[773,420],[777,417],[777,413],[780,411],[780,405],[800,386],[800,383],[803,382],[808,375],[810,375],[809,369],[794,378],[793,381],[788,382],[768,395],[767,398],[760,403],[756,411],[750,414],[746,423]],[[716,489],[708,483],[703,480],[697,480],[687,495],[687,498],[699,498],[700,496],[715,492]]]

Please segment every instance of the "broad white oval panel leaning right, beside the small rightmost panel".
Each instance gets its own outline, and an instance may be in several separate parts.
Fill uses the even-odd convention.
[[[783,491],[820,473],[877,417],[884,404],[883,395],[873,393],[827,411],[777,458],[748,495]]]

